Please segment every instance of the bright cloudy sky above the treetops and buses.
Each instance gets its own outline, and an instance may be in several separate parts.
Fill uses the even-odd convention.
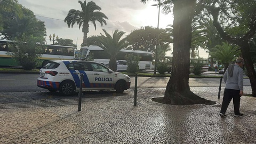
[[[77,25],[73,28],[68,28],[67,23],[64,22],[69,10],[75,9],[81,11],[81,6],[78,0],[18,0],[19,3],[30,9],[36,15],[36,18],[44,21],[46,26],[46,42],[50,42],[49,35],[55,34],[59,38],[73,39],[73,43],[77,43],[78,49],[83,42],[82,27],[78,29]],[[82,0],[82,2],[84,2]],[[90,2],[90,1],[86,1]],[[125,31],[128,35],[135,29],[140,27],[152,26],[157,27],[158,19],[158,7],[151,6],[151,4],[157,4],[154,1],[148,1],[147,4],[143,4],[140,0],[94,0],[96,5],[101,7],[102,13],[107,17],[107,25],[100,26],[97,23],[97,29],[95,30],[92,23],[89,23],[89,33],[87,37],[92,35],[100,35],[103,33],[102,29],[106,29],[108,33],[112,33],[118,29],[119,31]],[[162,9],[161,9],[162,10]],[[166,28],[167,25],[173,23],[173,15],[165,15],[160,13],[159,28]],[[167,52],[166,55],[170,55],[171,52]],[[202,57],[202,56],[201,56]]]

